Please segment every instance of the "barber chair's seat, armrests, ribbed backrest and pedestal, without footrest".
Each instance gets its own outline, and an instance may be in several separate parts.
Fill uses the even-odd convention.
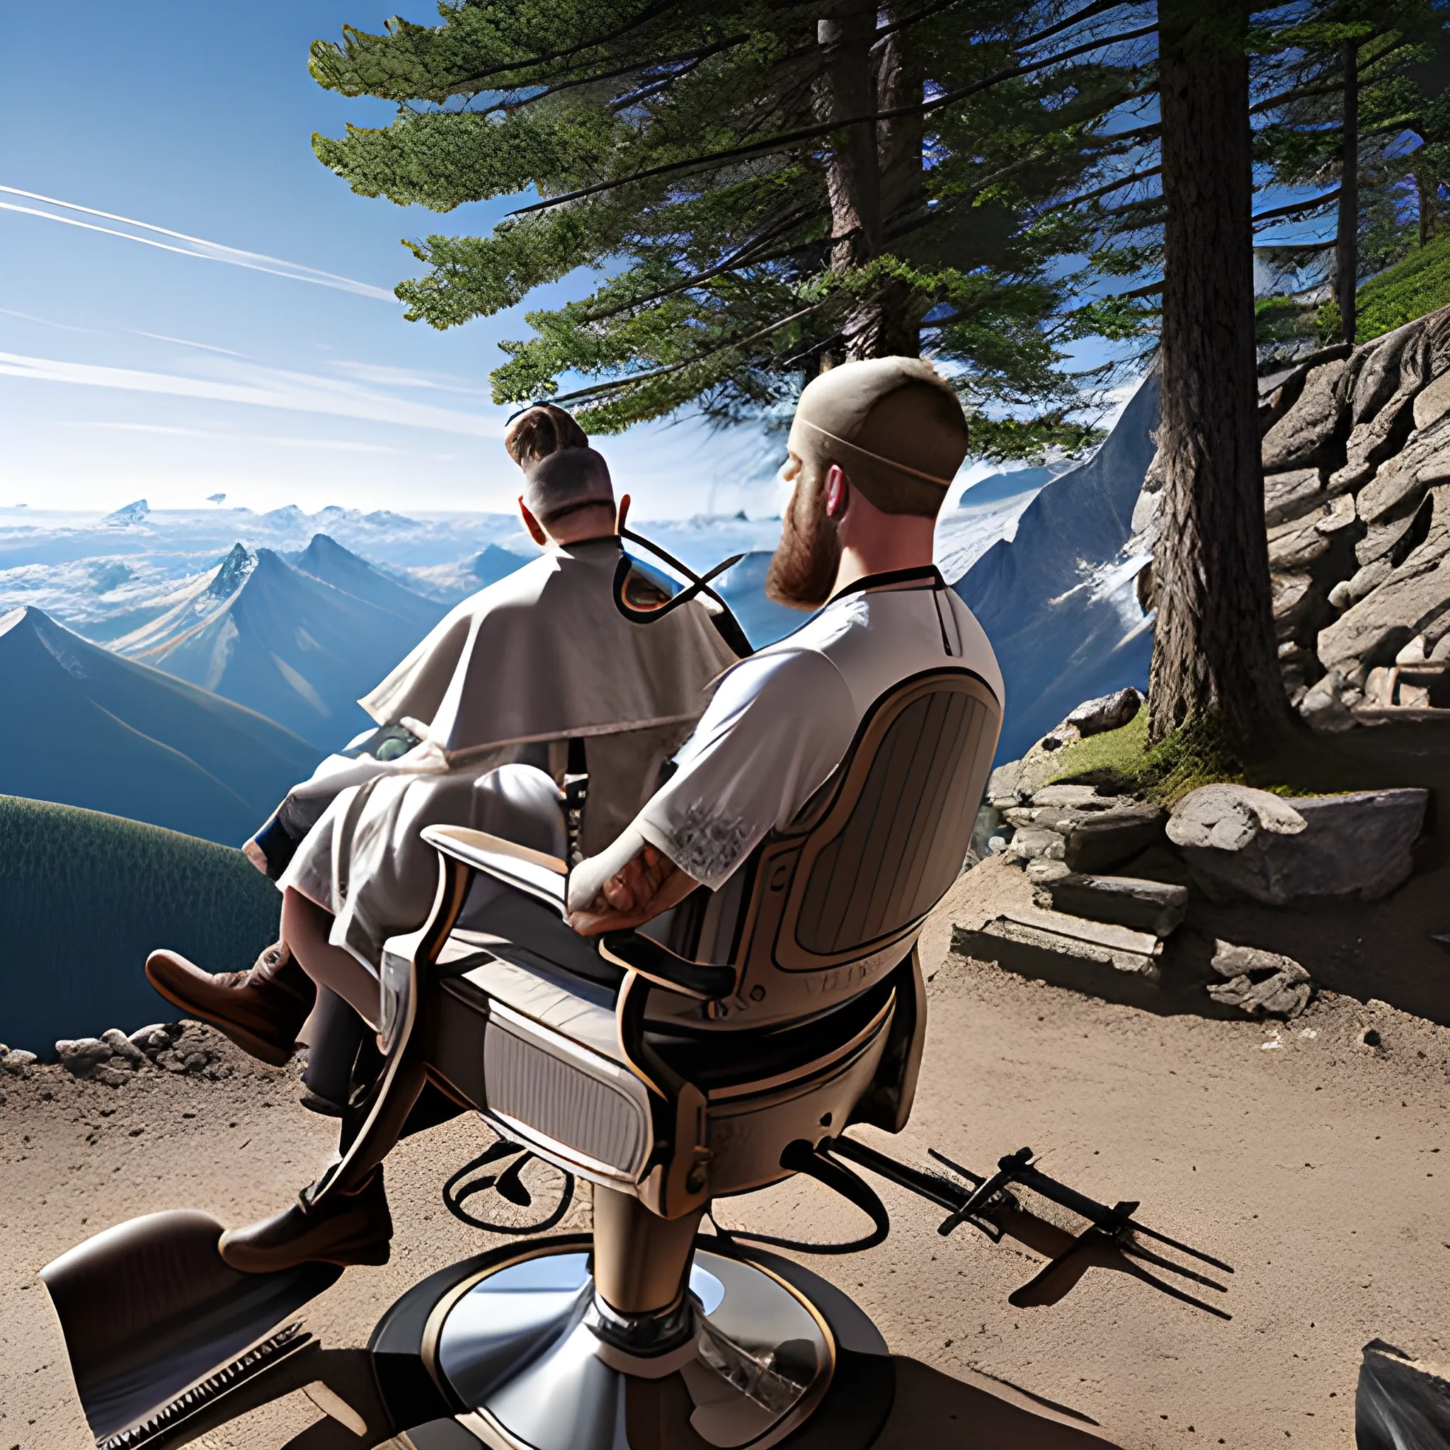
[[[697,1230],[713,1199],[793,1173],[841,1186],[819,1144],[853,1122],[905,1124],[925,1028],[914,947],[961,869],[998,725],[969,671],[893,689],[734,889],[702,889],[651,935],[603,938],[594,974],[612,983],[560,970],[547,938],[460,925],[478,879],[561,919],[563,861],[464,828],[425,832],[436,906],[387,944],[384,1082],[319,1192],[371,1172],[426,1080],[593,1185],[592,1251],[531,1244],[429,1309],[422,1359],[477,1438],[874,1438],[892,1379],[867,1321],[813,1275]]]

